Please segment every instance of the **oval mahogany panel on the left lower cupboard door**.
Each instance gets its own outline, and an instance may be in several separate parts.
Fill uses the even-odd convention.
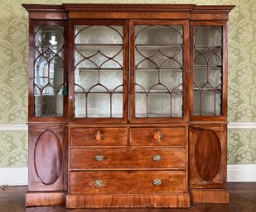
[[[37,177],[51,185],[60,177],[62,148],[60,139],[52,131],[43,132],[36,141],[34,163]]]

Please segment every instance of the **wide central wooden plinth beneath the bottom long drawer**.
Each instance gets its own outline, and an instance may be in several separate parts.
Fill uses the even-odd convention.
[[[69,195],[66,207],[73,208],[186,208],[188,193],[174,195]]]

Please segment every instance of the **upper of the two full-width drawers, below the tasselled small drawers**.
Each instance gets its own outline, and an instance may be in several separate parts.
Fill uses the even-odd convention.
[[[71,148],[70,168],[186,168],[186,148]]]

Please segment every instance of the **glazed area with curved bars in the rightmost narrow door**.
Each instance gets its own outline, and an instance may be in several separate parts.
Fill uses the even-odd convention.
[[[194,115],[221,115],[222,26],[194,30]]]

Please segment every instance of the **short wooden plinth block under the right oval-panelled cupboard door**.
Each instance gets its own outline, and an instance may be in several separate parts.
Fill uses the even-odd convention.
[[[190,190],[192,203],[229,203],[229,192],[225,190]]]

